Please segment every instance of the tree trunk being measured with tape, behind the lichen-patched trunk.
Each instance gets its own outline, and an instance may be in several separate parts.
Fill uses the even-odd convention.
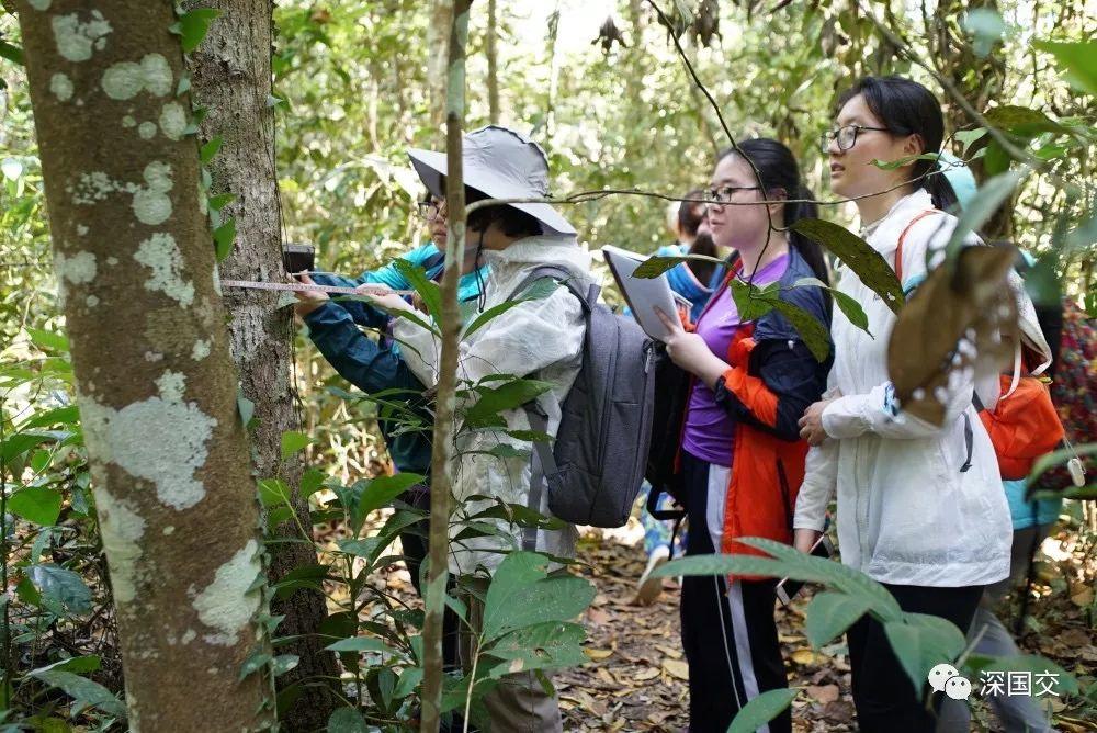
[[[207,163],[213,192],[235,196],[224,215],[236,219],[236,245],[220,263],[222,275],[226,280],[287,281],[282,267],[274,114],[269,103],[271,0],[204,0],[186,7],[222,12],[189,58],[195,100],[208,110],[200,128],[202,139],[223,139],[220,150]],[[278,477],[295,489],[301,482],[301,462],[282,460],[282,433],[301,429],[294,413],[293,313],[279,309],[279,295],[227,290],[225,305],[231,317],[231,351],[244,395],[256,406],[258,424],[251,431],[256,475]],[[290,495],[295,497],[301,526],[312,527],[308,503],[296,490]],[[294,567],[316,563],[312,545],[286,541],[301,539],[296,522],[284,522],[273,535],[282,541],[271,545],[272,583]],[[284,700],[293,703],[285,708],[283,722],[293,731],[324,728],[336,706],[329,683],[339,676],[335,654],[323,651],[325,642],[317,636],[327,616],[324,595],[298,589],[285,600],[274,600],[271,612],[285,616],[278,635],[296,638],[279,652],[299,657],[297,667],[278,680],[280,690],[294,686],[291,698]],[[312,684],[305,686],[306,680]]]

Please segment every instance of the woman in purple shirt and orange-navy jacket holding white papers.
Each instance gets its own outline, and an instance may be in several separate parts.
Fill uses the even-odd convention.
[[[713,241],[734,249],[727,279],[701,314],[695,332],[668,315],[667,352],[693,375],[680,446],[678,485],[689,521],[687,555],[761,554],[739,537],[792,542],[792,510],[807,446],[798,418],[818,399],[828,362],[819,363],[796,329],[772,309],[745,322],[731,279],[778,283],[782,301],[829,323],[827,294],[796,287],[826,280],[818,246],[787,227],[815,216],[792,153],[777,140],[726,150],[712,173],[709,226]],[[743,156],[749,158],[749,162]],[[755,177],[750,162],[758,169]],[[762,201],[777,203],[753,203]],[[736,712],[760,693],[788,687],[773,618],[776,580],[687,576],[681,633],[689,661],[690,731],[726,731]],[[770,731],[791,731],[785,711]]]

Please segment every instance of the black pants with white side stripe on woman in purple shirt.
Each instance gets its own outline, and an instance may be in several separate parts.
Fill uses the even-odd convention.
[[[689,514],[686,554],[711,554],[709,464],[688,453],[682,454],[682,461]],[[773,618],[773,586],[772,579],[728,585],[725,576],[682,578],[682,646],[689,662],[691,733],[724,733],[749,700],[789,686]],[[769,731],[790,733],[791,712],[785,710],[776,718]]]

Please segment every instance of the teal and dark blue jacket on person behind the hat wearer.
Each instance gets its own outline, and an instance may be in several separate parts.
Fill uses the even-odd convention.
[[[423,268],[431,280],[437,281],[442,275],[443,258],[432,244],[418,247],[400,256],[400,259]],[[313,280],[320,285],[344,287],[366,283],[384,284],[393,290],[411,287],[392,263],[363,272],[353,279],[331,273],[314,273]],[[462,275],[457,286],[459,300],[475,301],[479,296],[479,282],[486,280],[486,267],[479,268],[479,280],[476,271]],[[367,395],[398,391],[385,395],[384,399],[407,404],[419,418],[420,425],[418,429],[408,430],[406,426],[402,426],[406,420],[397,419],[392,408],[381,406],[377,418],[381,433],[397,471],[427,475],[430,471],[431,416],[422,397],[422,383],[404,363],[398,345],[386,335],[388,322],[388,314],[361,301],[328,301],[305,317],[308,337],[340,376]],[[359,326],[380,330],[382,337],[374,341]],[[399,429],[402,427],[403,430]]]

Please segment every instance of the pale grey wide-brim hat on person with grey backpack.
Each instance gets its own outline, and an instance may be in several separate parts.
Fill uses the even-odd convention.
[[[442,177],[448,163],[444,153],[409,148],[411,166],[427,189],[445,198]],[[546,199],[548,159],[533,140],[512,129],[488,125],[465,135],[461,151],[465,185],[491,199]],[[551,204],[507,204],[541,222],[546,234],[575,234],[575,227]]]

